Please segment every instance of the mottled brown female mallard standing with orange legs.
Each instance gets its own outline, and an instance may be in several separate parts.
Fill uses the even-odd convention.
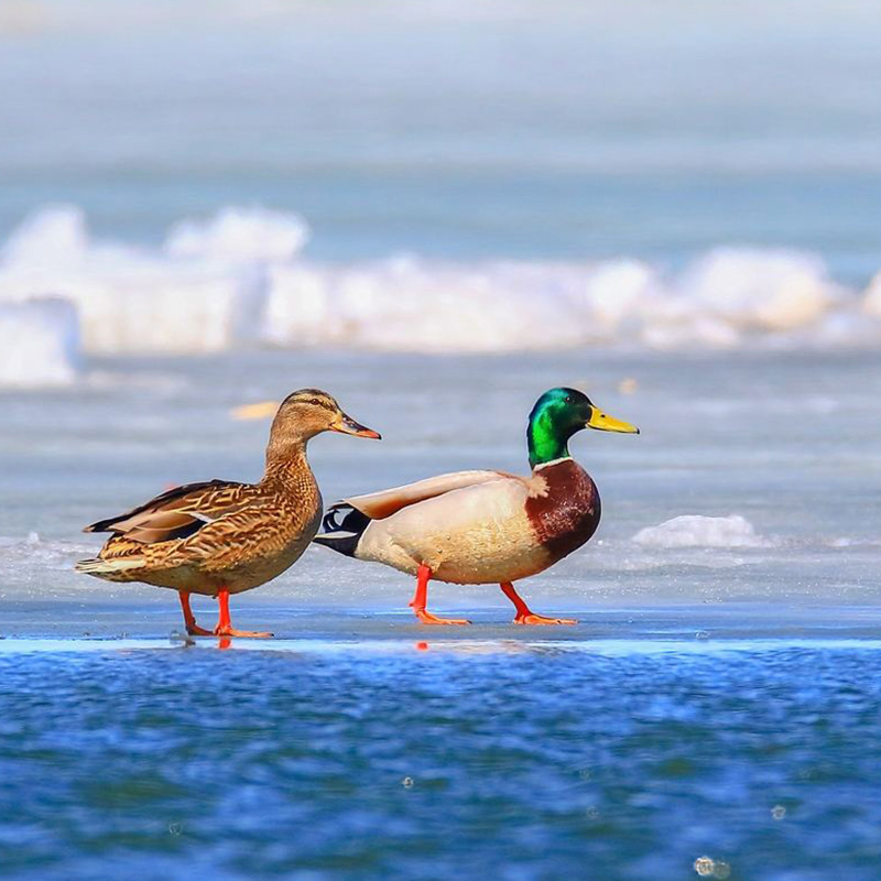
[[[347,416],[326,392],[302,389],[279,407],[259,483],[187,483],[85,532],[112,532],[100,554],[78,572],[108,581],[145,581],[177,590],[187,632],[200,637],[270,637],[235,630],[229,595],[283,573],[306,550],[322,520],[322,496],[306,444],[322,432],[379,435]],[[217,627],[196,624],[191,594],[217,597]]]

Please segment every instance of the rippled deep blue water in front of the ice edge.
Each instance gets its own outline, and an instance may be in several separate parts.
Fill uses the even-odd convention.
[[[0,654],[10,881],[881,868],[877,642],[83,645]]]

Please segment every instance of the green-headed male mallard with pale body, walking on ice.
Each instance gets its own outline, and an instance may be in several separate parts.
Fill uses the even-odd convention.
[[[569,455],[581,428],[639,434],[575,389],[551,389],[530,413],[532,475],[459,471],[334,504],[315,541],[357,559],[416,576],[410,603],[425,624],[467,624],[426,610],[429,578],[499,584],[518,624],[574,624],[530,611],[513,581],[543,572],[587,542],[600,503],[590,476]]]

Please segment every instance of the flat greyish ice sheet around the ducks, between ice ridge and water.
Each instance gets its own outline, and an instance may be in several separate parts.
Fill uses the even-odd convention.
[[[584,548],[523,583],[536,610],[579,618],[603,605],[877,606],[881,530],[867,475],[881,448],[880,363],[871,351],[115,359],[102,367],[106,382],[89,377],[51,406],[44,395],[4,395],[0,590],[7,601],[145,605],[162,627],[177,626],[171,591],[75,573],[102,539],[80,529],[170,485],[259,477],[269,425],[232,418],[236,406],[317,385],[382,433],[373,444],[337,435],[312,443],[329,502],[466,468],[524,472],[526,413],[542,390],[564,383],[642,434],[573,438],[570,452],[599,487],[602,521]],[[622,378],[635,380],[628,394],[618,391]],[[40,540],[29,542],[34,531]],[[409,620],[412,590],[401,573],[314,547],[237,606],[255,626],[261,614],[248,609],[261,603],[287,616],[329,606]],[[509,620],[491,585],[435,585],[431,596],[442,611]]]

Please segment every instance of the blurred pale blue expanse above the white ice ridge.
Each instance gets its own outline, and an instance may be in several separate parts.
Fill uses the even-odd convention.
[[[301,214],[316,259],[879,268],[881,12],[783,0],[6,0],[0,232]]]

